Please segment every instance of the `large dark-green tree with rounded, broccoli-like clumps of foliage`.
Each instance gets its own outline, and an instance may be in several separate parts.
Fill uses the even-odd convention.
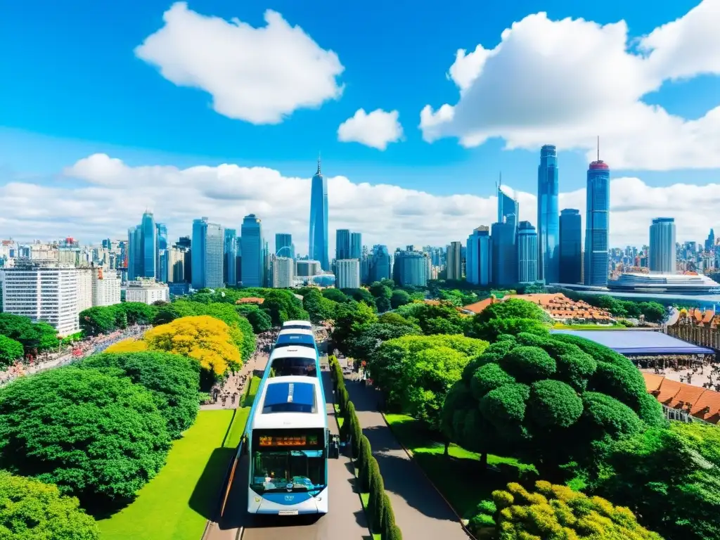
[[[571,461],[593,463],[612,441],[642,429],[639,415],[664,421],[636,384],[635,366],[604,349],[595,356],[559,336],[523,333],[493,343],[449,392],[444,433],[464,448],[515,455],[546,473]]]

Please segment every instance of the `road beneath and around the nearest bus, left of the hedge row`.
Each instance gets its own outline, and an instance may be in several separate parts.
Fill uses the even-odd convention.
[[[333,410],[333,384],[323,369],[323,387],[328,402],[328,426],[338,433]],[[321,518],[305,516],[251,516],[247,513],[247,456],[238,463],[228,503],[220,523],[213,523],[206,540],[367,540],[369,533],[360,498],[354,492],[350,460],[328,459],[330,511]]]

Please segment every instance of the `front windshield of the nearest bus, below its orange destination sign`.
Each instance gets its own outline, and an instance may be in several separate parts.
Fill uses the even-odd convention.
[[[324,452],[322,450],[253,451],[250,487],[258,494],[323,490]]]

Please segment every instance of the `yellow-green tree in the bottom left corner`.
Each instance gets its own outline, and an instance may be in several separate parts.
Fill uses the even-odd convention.
[[[95,520],[76,498],[34,478],[0,471],[0,538],[17,540],[97,540]]]

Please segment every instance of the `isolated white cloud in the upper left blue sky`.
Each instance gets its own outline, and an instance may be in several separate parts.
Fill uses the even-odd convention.
[[[168,81],[207,91],[212,107],[226,117],[278,124],[297,109],[342,94],[338,55],[270,9],[261,28],[205,17],[185,2],[173,4],[163,20],[165,26],[145,38],[135,55]]]

